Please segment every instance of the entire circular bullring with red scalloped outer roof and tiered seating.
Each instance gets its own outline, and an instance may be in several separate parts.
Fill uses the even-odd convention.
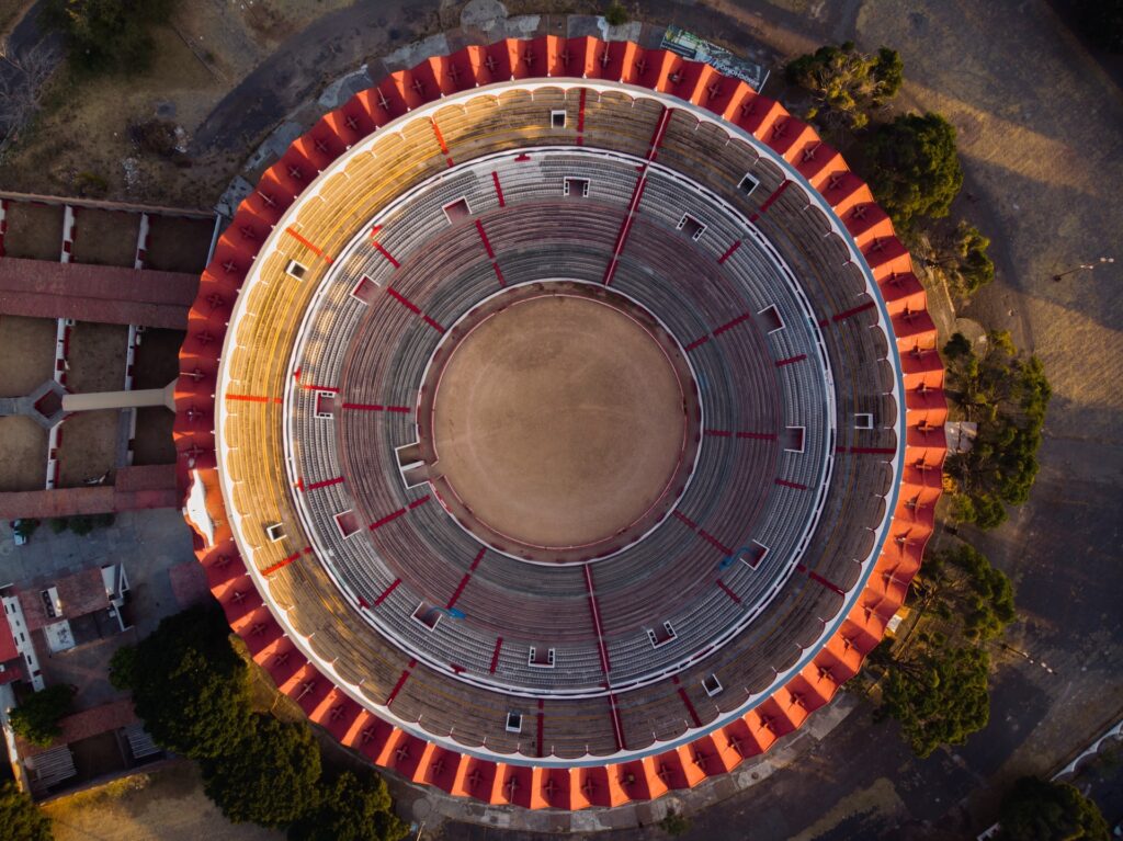
[[[935,342],[778,103],[627,42],[466,47],[326,115],[219,240],[185,514],[254,659],[372,762],[654,798],[880,641],[940,494]]]

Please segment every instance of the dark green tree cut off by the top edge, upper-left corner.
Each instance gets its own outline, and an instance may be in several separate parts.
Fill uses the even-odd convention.
[[[136,73],[152,64],[155,24],[174,0],[46,0],[43,22],[66,38],[71,64],[85,73]]]

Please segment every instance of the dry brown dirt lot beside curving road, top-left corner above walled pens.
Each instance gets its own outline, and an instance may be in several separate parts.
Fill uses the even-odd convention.
[[[244,155],[192,159],[184,177],[171,159],[138,149],[129,126],[158,117],[174,121],[190,139],[216,103],[284,39],[347,4],[349,0],[180,3],[171,26],[153,31],[155,60],[147,73],[130,74],[126,83],[121,76],[74,83],[65,70],[56,74],[39,118],[0,166],[0,183],[16,191],[66,194],[83,182],[103,180],[104,190],[98,192],[108,196],[211,207]]]

